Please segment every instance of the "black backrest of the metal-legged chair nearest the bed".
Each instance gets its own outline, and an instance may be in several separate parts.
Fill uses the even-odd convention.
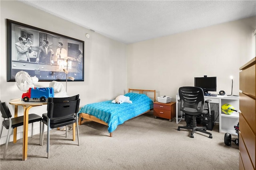
[[[66,98],[48,98],[47,116],[50,119],[72,116],[79,109],[79,94]]]

